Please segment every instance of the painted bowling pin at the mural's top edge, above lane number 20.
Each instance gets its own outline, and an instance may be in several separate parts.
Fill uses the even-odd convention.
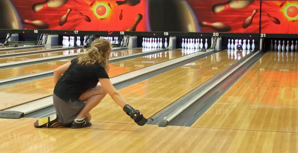
[[[242,9],[250,5],[254,0],[228,0],[225,3],[218,3],[212,6],[212,11],[218,13],[226,8]]]

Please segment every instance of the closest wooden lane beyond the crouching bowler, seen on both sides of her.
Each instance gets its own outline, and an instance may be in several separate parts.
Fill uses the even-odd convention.
[[[132,50],[128,50],[128,51],[130,53],[140,52],[140,50],[142,51],[142,49],[134,49],[134,50],[135,51],[132,51]],[[154,64],[168,61],[174,58],[179,58],[181,57],[181,55],[182,55],[181,50],[167,51],[161,54],[161,58],[160,56],[158,57],[156,55],[156,59],[155,59],[155,54],[154,54],[153,57],[150,57],[150,56],[146,58],[140,57],[136,59],[116,62],[111,64],[109,76],[113,77],[113,76],[125,74],[131,71],[152,66]],[[32,100],[36,100],[39,98],[44,98],[46,96],[50,96],[53,94],[53,89],[54,89],[53,77],[48,77],[48,78],[38,79],[38,80],[25,82],[21,84],[2,87],[0,88],[0,97],[2,99],[0,102],[0,110],[9,108],[12,106],[16,106],[19,104],[23,104]]]

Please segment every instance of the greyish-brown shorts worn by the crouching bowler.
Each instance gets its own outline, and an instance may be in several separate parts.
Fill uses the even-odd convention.
[[[65,101],[53,93],[53,103],[56,109],[58,122],[63,124],[72,123],[81,109],[85,106],[81,101]]]

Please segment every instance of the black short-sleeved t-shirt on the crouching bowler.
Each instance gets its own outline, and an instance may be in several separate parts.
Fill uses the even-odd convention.
[[[75,58],[68,70],[59,78],[54,93],[66,101],[78,100],[83,92],[97,85],[98,78],[109,78],[102,66],[98,63],[81,66],[77,64]]]

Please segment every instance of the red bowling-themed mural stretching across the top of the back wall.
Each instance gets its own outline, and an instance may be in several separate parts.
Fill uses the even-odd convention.
[[[1,29],[298,33],[298,0],[0,0]]]

